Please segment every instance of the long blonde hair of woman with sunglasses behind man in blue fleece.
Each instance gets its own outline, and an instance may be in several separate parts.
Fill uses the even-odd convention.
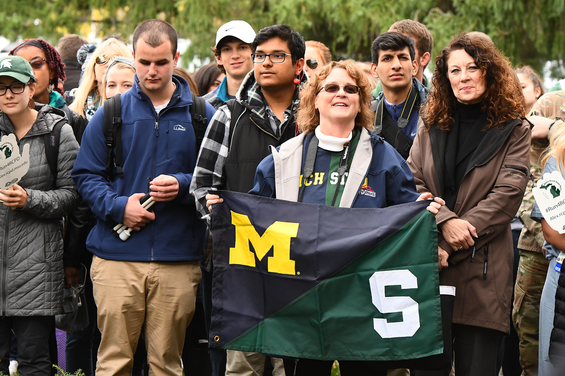
[[[98,90],[98,83],[96,81],[96,76],[94,75],[94,64],[96,64],[96,58],[105,54],[110,47],[114,47],[114,50],[118,52],[119,56],[132,56],[132,51],[130,51],[123,42],[118,41],[116,38],[106,39],[106,41],[100,43],[98,47],[96,47],[92,56],[90,56],[90,60],[86,63],[79,89],[75,92],[75,100],[71,103],[71,105],[69,105],[70,109],[82,115],[82,117],[85,116],[84,107],[86,105],[86,98],[88,98],[88,94],[90,94],[90,91],[93,89]],[[100,95],[99,92],[97,92],[97,94]]]

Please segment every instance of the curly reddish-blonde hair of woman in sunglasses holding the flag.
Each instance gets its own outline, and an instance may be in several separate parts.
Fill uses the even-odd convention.
[[[349,77],[359,86],[359,106],[361,111],[355,117],[355,126],[373,129],[375,114],[371,111],[371,85],[367,76],[353,60],[332,61],[324,65],[316,74],[310,77],[302,91],[300,107],[296,114],[298,128],[306,134],[314,131],[320,124],[320,112],[315,108],[314,101],[321,90],[321,83],[329,76],[333,69],[345,69]]]

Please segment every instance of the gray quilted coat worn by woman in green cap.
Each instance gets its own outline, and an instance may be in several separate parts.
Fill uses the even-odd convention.
[[[79,151],[71,126],[61,129],[57,180],[45,154],[44,135],[66,121],[62,110],[36,103],[37,120],[18,140],[20,152],[30,144],[29,170],[18,183],[28,193],[23,208],[0,204],[0,304],[6,316],[51,316],[60,313],[63,296],[62,217],[71,213],[79,193],[71,170]],[[0,112],[0,135],[14,133]]]

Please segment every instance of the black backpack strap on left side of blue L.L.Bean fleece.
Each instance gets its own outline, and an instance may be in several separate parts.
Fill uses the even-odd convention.
[[[118,114],[118,116],[116,116]],[[104,101],[104,138],[106,139],[106,175],[108,181],[112,172],[112,164],[118,170],[118,178],[124,177],[121,161],[121,100],[120,93]],[[112,151],[116,148],[115,157],[112,158]],[[112,163],[114,162],[114,163]]]

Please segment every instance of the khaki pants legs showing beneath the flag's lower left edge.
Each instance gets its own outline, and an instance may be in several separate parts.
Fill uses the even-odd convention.
[[[273,376],[285,376],[282,359],[271,358],[271,364]],[[265,356],[262,353],[228,350],[225,376],[263,376],[264,369]]]

